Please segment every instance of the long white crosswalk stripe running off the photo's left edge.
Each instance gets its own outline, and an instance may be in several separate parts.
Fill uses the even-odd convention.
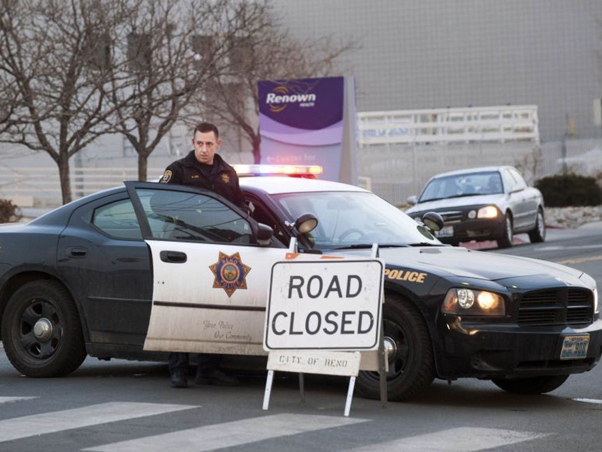
[[[197,408],[197,406],[167,403],[108,402],[71,410],[5,419],[0,421],[0,442],[191,408]]]

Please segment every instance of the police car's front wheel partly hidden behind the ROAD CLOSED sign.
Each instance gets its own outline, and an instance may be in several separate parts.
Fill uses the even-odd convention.
[[[429,330],[418,310],[398,295],[386,298],[383,327],[385,338],[395,345],[393,355],[389,353],[387,397],[409,400],[427,389],[435,377]],[[363,397],[380,398],[378,372],[359,372],[356,389]]]

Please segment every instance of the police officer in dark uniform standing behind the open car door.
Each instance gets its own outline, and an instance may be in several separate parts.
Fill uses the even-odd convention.
[[[222,140],[217,127],[209,122],[201,122],[194,128],[193,150],[184,159],[169,165],[160,182],[181,184],[213,190],[228,201],[247,210],[243,192],[238,185],[238,176],[232,166],[224,162],[219,154]],[[238,379],[219,369],[219,355],[200,353],[194,382],[199,385],[238,385]],[[169,354],[169,374],[172,388],[186,388],[188,381],[188,353]]]

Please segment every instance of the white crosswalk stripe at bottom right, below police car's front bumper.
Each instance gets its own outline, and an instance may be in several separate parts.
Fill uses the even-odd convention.
[[[348,452],[474,452],[548,436],[499,428],[460,427],[358,447]]]

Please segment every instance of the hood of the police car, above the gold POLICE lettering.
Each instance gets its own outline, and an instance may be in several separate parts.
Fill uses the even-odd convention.
[[[455,276],[495,281],[545,274],[574,281],[583,273],[545,260],[485,253],[458,246],[381,248],[379,256],[387,266],[427,271],[441,277]]]

